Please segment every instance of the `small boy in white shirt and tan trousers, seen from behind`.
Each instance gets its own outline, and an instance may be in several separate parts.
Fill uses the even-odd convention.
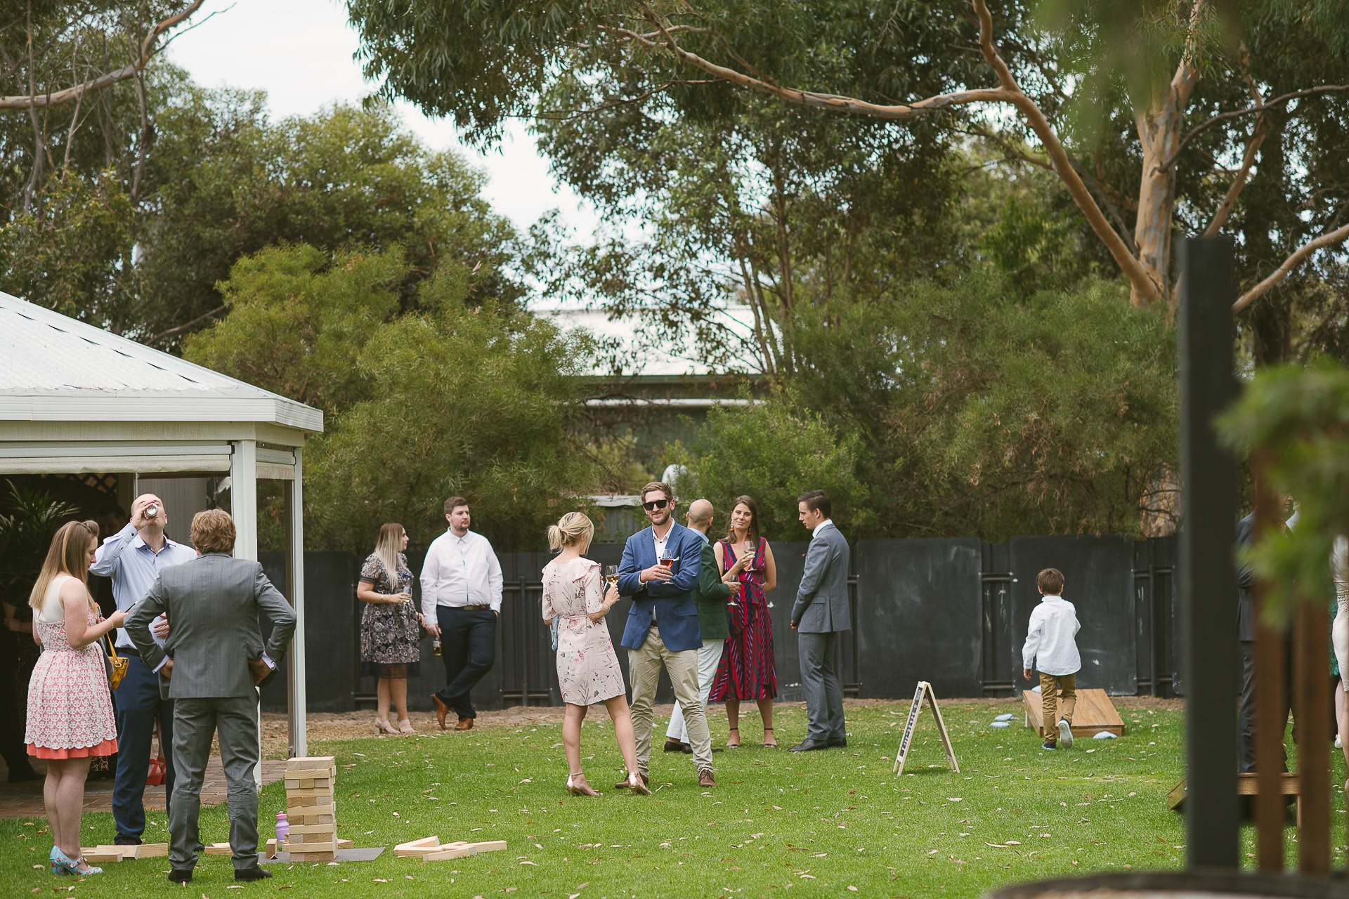
[[[1045,721],[1043,748],[1058,749],[1062,743],[1064,749],[1071,749],[1072,708],[1078,704],[1078,670],[1082,667],[1075,638],[1082,625],[1078,623],[1077,609],[1062,596],[1063,573],[1059,569],[1044,569],[1035,577],[1035,585],[1044,598],[1031,612],[1025,646],[1021,648],[1021,663],[1025,667],[1027,681],[1031,679],[1032,667],[1040,670],[1040,706]],[[1058,741],[1052,736],[1051,721],[1059,722]]]

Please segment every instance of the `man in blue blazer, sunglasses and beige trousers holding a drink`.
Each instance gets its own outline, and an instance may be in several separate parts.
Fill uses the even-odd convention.
[[[674,698],[684,709],[684,725],[693,747],[697,784],[715,787],[712,737],[697,689],[697,648],[703,632],[693,593],[703,559],[703,538],[674,522],[674,491],[654,481],[642,488],[642,508],[652,526],[627,538],[618,566],[618,592],[633,597],[622,646],[633,679],[633,733],[637,768],[649,782],[653,706],[661,666],[670,675]],[[669,559],[669,565],[662,565]],[[621,788],[625,783],[615,784]]]

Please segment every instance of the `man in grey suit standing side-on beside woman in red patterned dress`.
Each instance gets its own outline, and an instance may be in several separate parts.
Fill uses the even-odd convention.
[[[839,678],[839,632],[851,631],[847,604],[847,540],[830,520],[832,503],[824,491],[807,491],[797,499],[797,518],[811,528],[805,571],[792,607],[792,629],[801,655],[805,687],[805,740],[792,752],[846,747],[843,681]]]

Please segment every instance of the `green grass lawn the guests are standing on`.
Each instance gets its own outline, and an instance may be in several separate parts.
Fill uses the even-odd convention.
[[[223,899],[294,888],[304,896],[978,896],[990,887],[1089,871],[1184,864],[1182,818],[1166,794],[1182,774],[1183,713],[1122,709],[1120,740],[1079,739],[1043,752],[1021,726],[1020,705],[947,705],[960,774],[947,771],[931,717],[920,720],[908,772],[890,764],[908,704],[849,710],[849,747],[804,755],[747,747],[716,756],[719,786],[700,791],[692,759],[657,753],[653,797],[615,791],[621,767],[607,720],[587,722],[583,753],[604,795],[563,791],[561,725],[488,726],[468,735],[314,744],[337,756],[337,822],[357,846],[389,846],[378,861],[274,865],[275,879],[239,891],[228,857],[208,857],[186,894],[165,879],[165,860],[124,861],[74,884],[70,895],[128,890]],[[1008,729],[989,722],[1002,712]],[[594,714],[594,713],[592,713]],[[804,712],[780,713],[786,745]],[[714,718],[726,741],[726,717]],[[745,722],[758,737],[757,717]],[[664,725],[658,728],[664,733]],[[1338,755],[1338,753],[1337,753]],[[1337,782],[1344,780],[1337,762]],[[664,784],[664,786],[661,786]],[[270,833],[285,805],[281,783],[262,799]],[[1336,845],[1344,797],[1336,795]],[[152,834],[166,838],[162,815]],[[71,886],[32,865],[50,842],[40,818],[0,822],[0,895]],[[90,842],[109,841],[109,814],[85,817]],[[393,857],[395,842],[438,834],[507,840],[507,852],[455,861]],[[1290,829],[1291,836],[1291,829]],[[225,807],[202,813],[206,842],[228,838]],[[1249,828],[1245,834],[1251,850]],[[1295,845],[1295,844],[1290,844]],[[1338,864],[1344,852],[1336,852]],[[855,890],[854,890],[855,888]],[[780,892],[774,892],[780,891]],[[65,895],[65,891],[62,891]]]

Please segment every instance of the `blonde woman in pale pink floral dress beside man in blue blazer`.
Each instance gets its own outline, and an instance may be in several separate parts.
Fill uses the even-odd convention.
[[[618,602],[618,586],[602,594],[599,562],[583,558],[595,536],[595,524],[580,512],[568,512],[548,528],[548,545],[558,551],[544,566],[544,621],[557,619],[557,683],[567,702],[563,721],[563,745],[567,751],[567,791],[572,795],[598,797],[585,783],[581,771],[581,722],[587,709],[603,702],[614,721],[614,736],[623,752],[627,780],[621,784],[634,793],[650,794],[637,774],[637,740],[633,716],[627,708],[623,671],[618,667],[614,642],[608,638],[604,616]]]

